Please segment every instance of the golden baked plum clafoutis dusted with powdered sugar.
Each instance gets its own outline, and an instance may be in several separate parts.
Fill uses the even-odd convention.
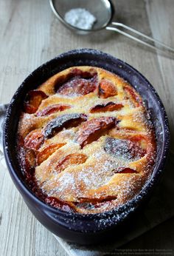
[[[153,172],[156,138],[127,81],[99,67],[70,67],[27,93],[17,149],[36,197],[95,214],[139,194]]]

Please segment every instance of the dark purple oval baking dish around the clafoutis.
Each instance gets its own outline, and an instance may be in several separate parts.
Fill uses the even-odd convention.
[[[142,95],[143,100],[150,112],[157,138],[157,157],[150,181],[124,206],[94,215],[82,215],[77,213],[63,212],[60,209],[48,206],[29,191],[24,183],[21,169],[15,152],[16,130],[18,118],[21,112],[24,96],[29,90],[33,90],[55,73],[72,66],[96,66],[111,71],[127,80]],[[24,201],[35,217],[55,235],[76,243],[98,243],[105,238],[113,238],[126,232],[127,220],[135,217],[137,209],[140,209],[150,192],[156,186],[164,170],[164,164],[169,149],[170,133],[167,115],[163,104],[152,85],[137,70],[123,61],[97,50],[81,49],[63,53],[46,64],[38,67],[18,87],[7,110],[4,124],[4,155],[10,175],[21,193]]]

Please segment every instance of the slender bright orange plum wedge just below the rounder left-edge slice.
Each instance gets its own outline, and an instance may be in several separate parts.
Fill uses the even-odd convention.
[[[65,144],[60,143],[60,144],[50,144],[49,146],[45,146],[44,149],[41,149],[41,151],[37,155],[37,158],[36,158],[37,165],[40,165],[47,158],[49,158],[49,156],[52,155],[57,149],[60,149],[60,147],[64,145]]]

